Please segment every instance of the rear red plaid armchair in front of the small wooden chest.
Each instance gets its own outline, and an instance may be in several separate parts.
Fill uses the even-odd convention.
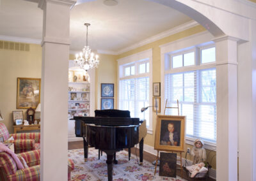
[[[40,149],[40,133],[9,134],[7,127],[0,122],[0,134],[3,134],[4,143],[13,143],[16,154]],[[14,140],[8,140],[11,137]]]

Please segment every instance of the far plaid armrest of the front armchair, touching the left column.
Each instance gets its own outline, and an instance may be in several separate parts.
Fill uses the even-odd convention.
[[[18,154],[18,156],[23,157],[28,166],[35,166],[40,164],[40,150],[22,152]]]

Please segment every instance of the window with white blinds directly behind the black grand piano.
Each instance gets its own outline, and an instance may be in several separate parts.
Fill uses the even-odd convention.
[[[136,55],[118,60],[118,109],[129,110],[131,117],[145,119],[148,133],[152,132],[152,110],[141,113],[141,108],[152,104],[152,78],[150,75],[150,61],[152,63],[152,50],[144,55]],[[141,59],[141,57],[144,57]],[[140,59],[139,59],[140,58]],[[150,132],[151,131],[151,132]]]

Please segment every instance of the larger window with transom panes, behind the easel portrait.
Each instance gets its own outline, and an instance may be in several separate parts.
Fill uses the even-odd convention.
[[[195,55],[200,56],[195,60]],[[186,115],[187,137],[216,143],[215,48],[196,48],[194,52],[170,57],[172,68],[164,73],[167,106],[177,106],[179,100],[180,115]],[[177,110],[167,109],[166,115],[177,115]]]

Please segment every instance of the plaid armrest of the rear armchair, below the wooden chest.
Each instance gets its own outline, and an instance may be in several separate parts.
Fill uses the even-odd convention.
[[[15,154],[35,150],[35,140],[6,140],[4,143],[13,143]]]

